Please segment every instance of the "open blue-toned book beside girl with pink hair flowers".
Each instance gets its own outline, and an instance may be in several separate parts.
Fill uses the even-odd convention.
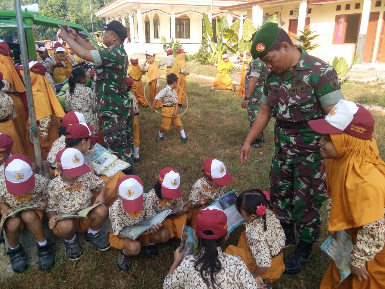
[[[235,190],[232,190],[221,197],[217,198],[209,207],[215,206],[221,208],[227,216],[227,231],[229,233],[233,232],[236,227],[246,222],[242,218],[241,214],[235,207],[235,202],[238,198],[238,193]]]

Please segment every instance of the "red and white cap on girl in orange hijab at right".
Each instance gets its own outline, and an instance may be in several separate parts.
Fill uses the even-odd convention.
[[[374,119],[363,106],[341,99],[324,119],[308,121],[317,133],[346,133],[359,139],[372,139]]]

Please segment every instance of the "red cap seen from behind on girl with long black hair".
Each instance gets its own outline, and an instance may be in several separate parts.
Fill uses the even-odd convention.
[[[227,228],[227,216],[218,207],[209,206],[196,215],[195,232],[202,239],[219,239],[226,234]],[[206,230],[212,234],[203,234]]]

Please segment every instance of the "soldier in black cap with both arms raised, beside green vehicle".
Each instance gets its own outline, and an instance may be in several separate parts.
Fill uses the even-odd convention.
[[[131,113],[132,99],[126,91],[129,61],[123,46],[127,30],[115,20],[104,28],[103,44],[108,48],[102,50],[85,42],[70,27],[61,27],[59,36],[67,41],[76,55],[94,62],[96,109],[97,115],[103,120],[104,141],[115,155],[132,164],[134,121]]]

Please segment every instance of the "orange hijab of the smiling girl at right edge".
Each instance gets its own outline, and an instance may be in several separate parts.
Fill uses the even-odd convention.
[[[330,134],[338,157],[326,160],[331,196],[329,231],[358,228],[380,219],[385,207],[385,163],[377,142]]]

